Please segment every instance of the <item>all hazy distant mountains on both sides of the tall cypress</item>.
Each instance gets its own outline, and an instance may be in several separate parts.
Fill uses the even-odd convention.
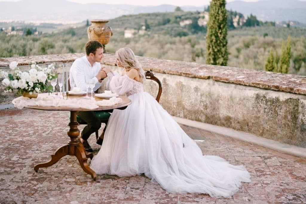
[[[208,6],[208,5],[206,5]],[[133,6],[127,4],[80,4],[66,0],[21,0],[0,2],[0,21],[76,23],[86,19],[113,19],[122,15],[173,12],[175,5]],[[233,1],[226,5],[245,17],[255,14],[262,21],[299,21],[306,23],[306,2],[298,0]],[[181,6],[184,11],[203,11],[203,6]]]

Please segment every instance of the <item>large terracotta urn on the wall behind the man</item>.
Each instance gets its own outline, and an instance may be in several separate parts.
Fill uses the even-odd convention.
[[[87,29],[88,39],[99,41],[103,45],[104,52],[105,45],[110,41],[110,36],[113,35],[112,28],[107,25],[108,21],[100,19],[91,20],[92,24]]]

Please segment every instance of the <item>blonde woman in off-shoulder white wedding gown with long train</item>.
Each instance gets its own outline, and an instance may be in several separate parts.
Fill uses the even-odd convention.
[[[144,92],[145,72],[130,48],[116,51],[122,74],[104,68],[110,78],[106,88],[126,94],[132,104],[110,116],[99,153],[90,168],[97,174],[135,176],[144,173],[174,194],[205,193],[230,197],[250,182],[243,166],[218,156],[203,156],[170,114]]]

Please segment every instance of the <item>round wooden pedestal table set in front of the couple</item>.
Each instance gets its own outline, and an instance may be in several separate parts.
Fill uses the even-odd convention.
[[[90,93],[88,93],[90,96]],[[38,94],[38,97],[46,97],[48,96],[48,93],[41,93]],[[83,98],[84,96],[75,96],[75,95],[69,95],[68,99],[70,98]],[[26,106],[24,108],[33,108],[33,109],[39,109],[39,110],[45,110],[45,111],[70,111],[70,123],[68,124],[69,131],[67,132],[70,141],[68,141],[67,145],[63,145],[60,148],[58,148],[53,155],[51,155],[51,160],[45,163],[40,163],[36,164],[34,167],[34,170],[38,172],[39,168],[43,167],[49,167],[58,162],[62,157],[65,155],[70,155],[70,156],[76,156],[76,158],[80,162],[80,166],[84,170],[84,172],[88,173],[91,175],[92,179],[97,178],[97,174],[89,168],[87,164],[88,158],[92,159],[93,154],[92,153],[85,153],[85,149],[83,144],[81,144],[78,140],[77,137],[80,135],[80,130],[77,128],[79,123],[76,121],[76,112],[77,111],[110,111],[113,109],[125,109],[129,104],[132,103],[132,101],[127,98],[126,96],[118,96],[122,99],[122,103],[116,104],[113,106],[100,106],[99,108],[89,110],[89,109],[83,109],[83,108],[69,108],[69,107],[45,107],[45,106]],[[94,100],[99,101],[103,100],[102,98],[98,98],[94,96]],[[105,100],[105,99],[104,99]],[[88,99],[88,101],[91,101]],[[13,104],[14,100],[12,101]]]

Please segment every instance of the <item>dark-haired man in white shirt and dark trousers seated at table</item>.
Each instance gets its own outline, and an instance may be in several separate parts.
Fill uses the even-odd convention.
[[[93,91],[96,91],[101,86],[102,80],[107,77],[100,64],[101,59],[104,57],[103,45],[96,40],[91,40],[86,44],[85,50],[86,55],[76,59],[70,68],[70,87],[71,90],[73,87],[79,87],[82,91],[87,92],[88,90],[85,78],[93,79],[95,81]],[[93,152],[87,139],[92,133],[100,129],[101,121],[95,115],[94,111],[78,111],[76,114],[88,124],[84,127],[78,140],[83,143],[86,152]],[[105,128],[103,132],[104,131]],[[97,143],[98,141],[102,144],[102,139],[100,137],[98,138]]]

